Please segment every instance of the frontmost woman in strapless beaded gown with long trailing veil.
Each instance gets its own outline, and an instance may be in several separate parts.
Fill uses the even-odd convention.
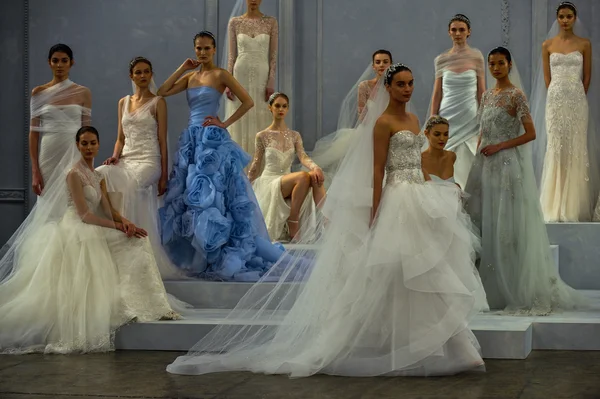
[[[481,288],[477,237],[458,188],[426,183],[425,137],[406,112],[410,69],[391,66],[376,90],[327,193],[312,267],[305,267],[309,251],[286,252],[268,273],[281,276],[270,291],[260,283],[251,288],[224,323],[167,371],[305,377],[483,369],[467,327]]]

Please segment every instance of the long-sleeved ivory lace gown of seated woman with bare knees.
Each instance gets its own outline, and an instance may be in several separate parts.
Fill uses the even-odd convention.
[[[281,178],[291,173],[292,161],[298,157],[309,170],[317,165],[306,155],[300,133],[264,130],[256,135],[256,152],[248,172],[258,205],[265,218],[271,240],[289,240],[286,221],[290,204],[281,194]],[[309,190],[300,211],[300,226],[314,223],[315,203]]]

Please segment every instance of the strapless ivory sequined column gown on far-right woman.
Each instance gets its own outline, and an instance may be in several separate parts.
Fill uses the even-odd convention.
[[[550,54],[552,79],[546,100],[548,144],[540,185],[548,222],[591,219],[587,153],[588,101],[583,88],[583,55]]]

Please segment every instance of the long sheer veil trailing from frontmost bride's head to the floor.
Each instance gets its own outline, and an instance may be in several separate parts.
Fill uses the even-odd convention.
[[[383,79],[368,100],[355,139],[340,163],[316,227],[300,232],[265,276],[244,295],[226,320],[202,338],[186,356],[167,367],[175,374],[249,370],[257,359],[285,364],[302,350],[318,350],[324,302],[344,287],[343,276],[364,267],[373,195],[373,127],[389,102]],[[319,245],[313,245],[315,239]],[[322,248],[322,249],[321,249]],[[339,276],[333,279],[332,276]],[[335,286],[321,283],[330,281]],[[296,306],[294,306],[296,305]],[[267,353],[265,353],[267,352]],[[323,360],[323,367],[327,360]],[[318,370],[311,370],[310,372]]]

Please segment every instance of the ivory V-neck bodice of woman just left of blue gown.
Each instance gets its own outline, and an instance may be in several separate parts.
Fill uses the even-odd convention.
[[[158,124],[154,117],[156,104],[160,97],[155,97],[133,112],[129,112],[131,96],[123,102],[123,134],[125,146],[122,157],[129,160],[145,161],[150,157],[160,157],[158,144]]]

